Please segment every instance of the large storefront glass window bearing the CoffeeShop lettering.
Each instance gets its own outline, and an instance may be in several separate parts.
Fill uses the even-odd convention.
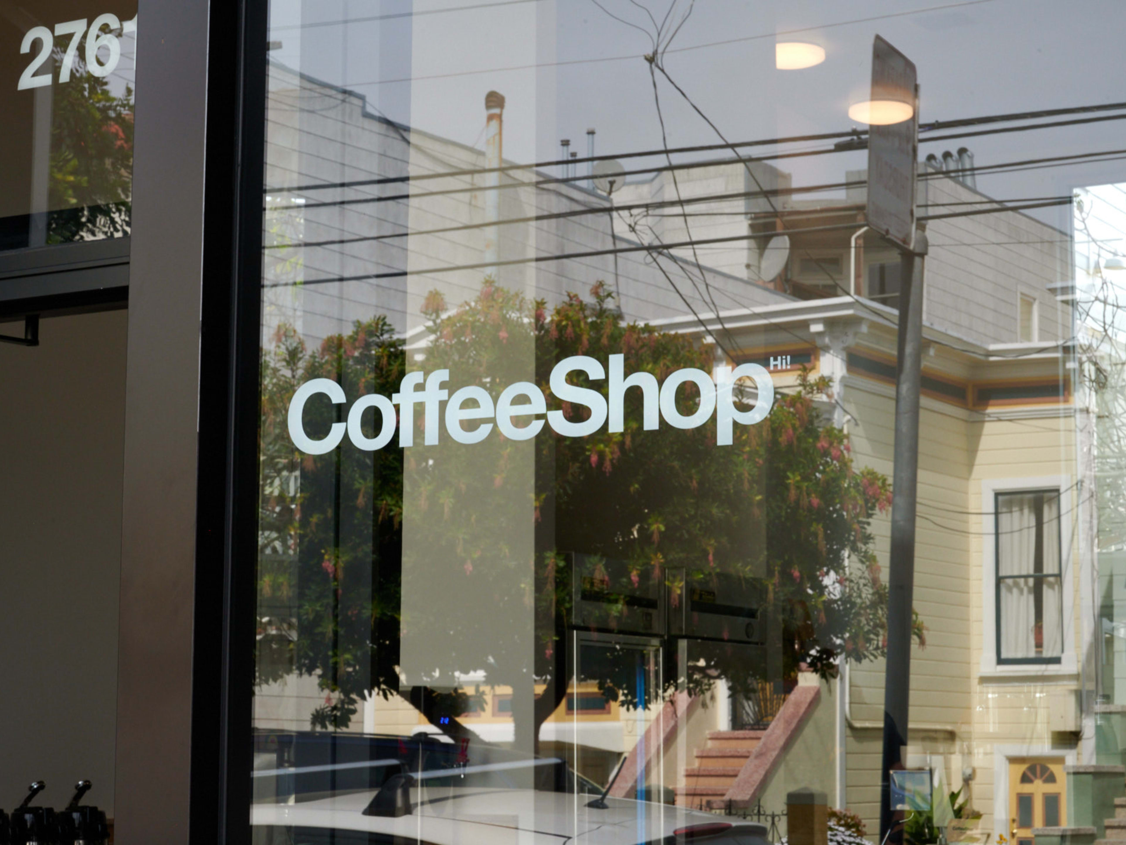
[[[269,21],[257,840],[1093,824],[1117,6]]]

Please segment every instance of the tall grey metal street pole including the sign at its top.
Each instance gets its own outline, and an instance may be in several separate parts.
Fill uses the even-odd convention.
[[[915,502],[919,486],[919,388],[922,377],[923,260],[927,235],[915,228],[919,171],[919,84],[914,63],[878,35],[872,45],[873,116],[868,130],[867,223],[900,250],[899,356],[892,477],[892,557],[887,576],[887,669],[879,840],[897,845],[892,772],[903,768],[911,705],[911,622],[914,594]],[[910,105],[906,119],[895,117]]]

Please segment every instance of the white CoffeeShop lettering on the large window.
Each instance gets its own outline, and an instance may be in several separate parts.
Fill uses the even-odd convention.
[[[658,385],[656,377],[651,373],[633,373],[625,375],[625,356],[609,357],[609,401],[597,390],[569,384],[566,376],[572,372],[586,373],[591,381],[606,379],[606,370],[601,363],[587,355],[573,355],[564,358],[552,370],[549,386],[552,393],[564,402],[579,404],[590,409],[590,416],[581,421],[569,420],[563,411],[548,411],[543,391],[531,382],[516,382],[508,385],[493,403],[492,397],[484,388],[468,386],[454,391],[443,388],[449,381],[448,370],[436,370],[429,375],[421,372],[408,373],[399,385],[399,392],[391,399],[378,393],[368,393],[352,402],[348,410],[347,422],[333,422],[327,437],[313,439],[305,434],[302,417],[305,402],[316,393],[325,394],[333,404],[343,404],[347,400],[343,388],[331,379],[313,379],[305,382],[293,394],[289,401],[289,437],[294,445],[310,455],[323,455],[331,452],[343,439],[348,438],[356,448],[374,452],[383,448],[395,434],[395,406],[402,419],[399,426],[399,445],[414,445],[414,406],[421,404],[426,413],[426,427],[422,432],[422,443],[432,446],[438,443],[440,420],[439,402],[446,402],[446,433],[456,443],[480,443],[497,429],[510,441],[527,441],[543,430],[544,422],[564,437],[584,437],[598,432],[607,420],[608,430],[622,432],[625,428],[623,400],[626,390],[640,388],[642,392],[642,427],[645,430],[659,427],[659,417],[673,428],[696,428],[704,425],[716,413],[718,430],[716,443],[721,446],[731,445],[732,425],[751,426],[760,422],[770,412],[774,404],[774,382],[770,374],[758,364],[740,364],[734,370],[724,366],[716,370],[716,377],[703,370],[687,367],[677,370]],[[754,406],[745,411],[735,408],[733,388],[740,379],[751,379],[758,389]],[[677,409],[677,390],[691,382],[699,391],[699,407],[694,413],[685,416]],[[419,389],[421,388],[421,389]],[[379,433],[375,437],[364,434],[363,419],[368,409],[376,411]],[[546,420],[536,419],[546,413]],[[517,426],[515,420],[524,417],[526,425]],[[530,419],[527,419],[530,418]],[[488,421],[485,421],[488,420]],[[477,422],[476,428],[466,430],[463,422]]]

